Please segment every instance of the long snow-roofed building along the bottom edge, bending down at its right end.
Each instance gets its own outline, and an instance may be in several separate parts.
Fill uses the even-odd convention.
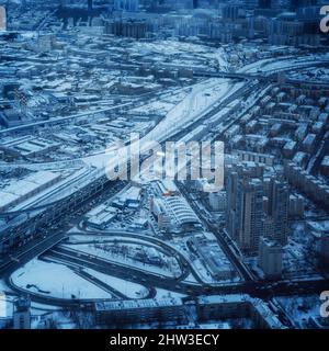
[[[247,318],[259,329],[284,329],[265,303],[246,294],[94,303],[95,320],[101,326],[183,325],[190,320],[188,310],[193,312],[198,322]]]

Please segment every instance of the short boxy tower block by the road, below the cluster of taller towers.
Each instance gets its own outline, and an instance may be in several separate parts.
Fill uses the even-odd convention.
[[[282,246],[268,238],[261,238],[259,245],[259,267],[265,278],[274,279],[282,275]]]

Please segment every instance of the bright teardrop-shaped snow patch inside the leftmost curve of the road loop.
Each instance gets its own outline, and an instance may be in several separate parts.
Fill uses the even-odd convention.
[[[64,264],[34,259],[16,270],[11,280],[26,292],[57,298],[111,298],[94,284],[77,275]],[[30,286],[30,287],[29,287]]]

